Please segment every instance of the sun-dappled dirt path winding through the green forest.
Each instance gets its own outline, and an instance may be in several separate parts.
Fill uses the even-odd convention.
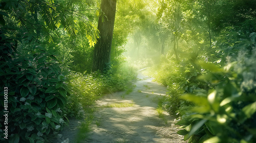
[[[166,87],[142,74],[138,79],[131,93],[115,92],[96,101],[96,123],[82,142],[184,142],[175,134],[175,117],[163,111],[159,118],[156,110]]]

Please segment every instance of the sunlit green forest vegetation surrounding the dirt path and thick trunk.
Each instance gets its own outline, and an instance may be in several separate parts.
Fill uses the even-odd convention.
[[[146,67],[167,86],[162,104],[184,140],[256,141],[255,0],[117,1],[111,62],[91,73],[100,3],[1,1],[9,142],[47,142],[100,95],[131,88]]]

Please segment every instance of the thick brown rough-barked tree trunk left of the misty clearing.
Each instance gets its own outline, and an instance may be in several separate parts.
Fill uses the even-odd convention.
[[[100,37],[94,47],[92,72],[104,71],[107,68],[107,63],[110,63],[116,0],[101,0],[100,8],[102,11],[98,21]]]

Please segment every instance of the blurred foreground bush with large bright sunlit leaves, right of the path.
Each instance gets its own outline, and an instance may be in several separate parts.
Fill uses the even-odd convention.
[[[185,107],[178,133],[188,142],[256,141],[256,49],[255,36],[237,56],[229,57],[223,68],[201,63],[210,73],[199,79],[211,82],[209,90],[185,94],[182,99],[194,103]],[[246,40],[248,41],[248,40]]]

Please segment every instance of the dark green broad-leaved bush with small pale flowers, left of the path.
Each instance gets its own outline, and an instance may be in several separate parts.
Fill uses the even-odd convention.
[[[68,73],[59,68],[57,46],[34,44],[20,54],[16,39],[1,34],[1,43],[0,88],[4,99],[8,87],[9,142],[44,142],[42,137],[61,130],[67,118]]]

